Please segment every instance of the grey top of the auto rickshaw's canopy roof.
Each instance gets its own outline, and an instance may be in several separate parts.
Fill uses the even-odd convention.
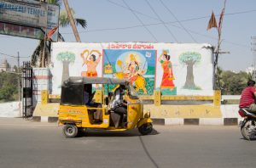
[[[108,78],[108,77],[80,77],[73,76],[69,77],[67,81],[64,81],[63,85],[73,85],[73,84],[120,84],[128,85],[129,81]]]

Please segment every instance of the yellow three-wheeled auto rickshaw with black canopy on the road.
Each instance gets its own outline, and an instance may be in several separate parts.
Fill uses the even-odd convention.
[[[118,90],[119,93],[121,91],[119,96]],[[118,104],[113,107],[116,99],[116,102],[122,100],[126,105]],[[121,107],[124,113],[118,113],[116,107]],[[101,120],[95,120],[99,111]],[[63,126],[66,137],[76,137],[86,128],[111,131],[138,128],[142,135],[147,135],[153,130],[150,114],[143,113],[143,104],[137,92],[129,81],[120,79],[69,77],[61,86],[58,115],[59,126]]]

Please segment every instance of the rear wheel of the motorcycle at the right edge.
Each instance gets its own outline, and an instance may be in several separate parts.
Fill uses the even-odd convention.
[[[246,121],[246,123],[241,127],[241,135],[247,140],[256,139],[254,120]]]

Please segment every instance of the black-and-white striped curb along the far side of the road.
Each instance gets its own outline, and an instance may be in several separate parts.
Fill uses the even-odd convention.
[[[57,122],[58,117],[51,116],[33,116],[32,120],[38,122]],[[156,126],[238,126],[239,118],[165,118],[152,119]]]

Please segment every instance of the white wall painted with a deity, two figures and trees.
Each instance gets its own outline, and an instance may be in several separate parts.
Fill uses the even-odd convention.
[[[212,46],[195,43],[53,43],[52,94],[68,76],[126,79],[139,95],[213,95]]]

